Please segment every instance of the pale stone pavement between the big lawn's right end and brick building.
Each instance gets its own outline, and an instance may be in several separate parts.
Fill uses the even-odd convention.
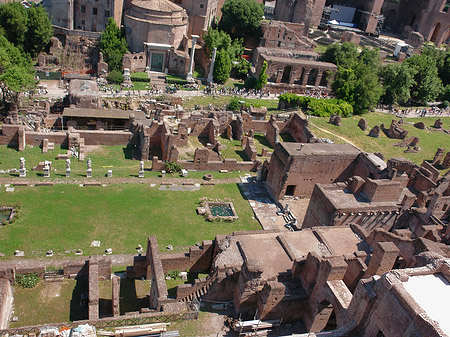
[[[278,229],[287,231],[284,227],[285,221],[283,217],[276,214],[280,209],[272,200],[262,182],[243,182],[239,184],[239,188],[253,208],[255,217],[264,230]]]

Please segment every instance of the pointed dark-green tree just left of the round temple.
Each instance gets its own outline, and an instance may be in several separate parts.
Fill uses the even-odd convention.
[[[100,38],[100,51],[110,70],[122,71],[122,57],[128,52],[128,43],[112,17],[108,18],[108,24]]]

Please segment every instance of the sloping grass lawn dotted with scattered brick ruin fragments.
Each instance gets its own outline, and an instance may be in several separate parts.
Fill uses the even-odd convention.
[[[368,122],[369,129],[367,131],[362,131],[358,127],[358,121],[361,117],[365,118]],[[325,137],[338,143],[344,143],[344,141],[338,137],[317,130],[314,128],[314,125],[350,140],[364,151],[381,152],[386,159],[391,157],[404,157],[420,165],[424,160],[433,159],[438,147],[444,147],[449,150],[450,135],[438,131],[420,130],[415,128],[412,124],[409,124],[422,121],[427,127],[431,127],[436,119],[438,119],[437,117],[405,118],[405,123],[402,127],[408,131],[407,137],[415,136],[420,138],[418,146],[421,150],[417,153],[404,153],[406,148],[393,146],[395,143],[400,142],[400,140],[388,138],[383,132],[380,132],[379,138],[368,136],[370,129],[375,125],[384,123],[385,127],[388,128],[391,125],[392,119],[399,120],[399,118],[392,115],[374,112],[363,116],[342,118],[341,126],[335,126],[328,123],[329,118],[310,118],[309,121],[312,131],[319,137]],[[444,128],[449,129],[450,118],[446,117],[442,118],[442,120],[444,121]]]

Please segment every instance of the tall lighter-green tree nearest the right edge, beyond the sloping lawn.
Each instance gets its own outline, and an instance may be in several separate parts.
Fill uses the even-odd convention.
[[[425,53],[413,55],[404,63],[416,71],[415,84],[411,88],[411,98],[421,103],[436,100],[443,91],[436,60]]]

